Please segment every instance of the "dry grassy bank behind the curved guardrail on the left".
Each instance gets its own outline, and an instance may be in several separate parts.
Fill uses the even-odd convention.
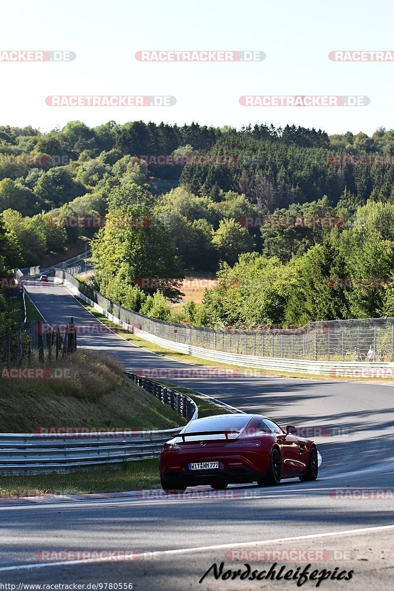
[[[185,424],[171,407],[127,378],[110,355],[81,349],[39,369],[48,377],[0,380],[2,433],[34,433],[41,427],[139,431]]]

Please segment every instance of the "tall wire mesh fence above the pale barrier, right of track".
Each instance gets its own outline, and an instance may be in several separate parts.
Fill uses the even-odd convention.
[[[102,296],[67,271],[57,269],[56,276],[131,325],[135,333],[142,330],[162,339],[227,353],[311,361],[369,361],[367,353],[372,346],[372,361],[394,361],[394,318],[310,322],[297,329],[216,330],[149,318]]]

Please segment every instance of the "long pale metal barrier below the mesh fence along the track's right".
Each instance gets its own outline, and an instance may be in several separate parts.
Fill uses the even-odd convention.
[[[229,365],[239,365],[242,367],[258,368],[258,369],[272,369],[275,371],[291,371],[298,374],[317,374],[317,375],[330,375],[331,372],[336,371],[337,375],[341,375],[341,370],[346,371],[347,374],[354,375],[360,374],[362,377],[363,372],[367,368],[370,370],[380,369],[382,371],[392,371],[394,378],[394,362],[353,362],[353,361],[310,361],[308,359],[289,359],[289,358],[278,358],[278,357],[262,357],[258,355],[243,355],[240,353],[227,353],[225,351],[218,351],[214,349],[204,349],[203,347],[196,347],[194,345],[185,345],[184,343],[177,343],[173,340],[162,339],[157,335],[145,332],[139,329],[135,324],[128,324],[122,322],[113,314],[110,314],[102,306],[97,304],[95,301],[90,300],[83,293],[81,293],[73,283],[67,279],[67,274],[63,271],[58,272],[58,277],[64,278],[64,284],[69,287],[77,297],[85,301],[89,306],[93,306],[100,314],[106,316],[111,322],[119,324],[123,329],[128,332],[135,332],[143,339],[149,340],[152,343],[157,343],[168,349],[172,349],[179,353],[185,353],[186,355],[194,355],[201,359],[209,359],[210,361],[217,361],[219,363],[229,363]],[[71,276],[70,276],[71,277]],[[73,278],[74,279],[74,278]],[[377,375],[379,378],[379,375]]]

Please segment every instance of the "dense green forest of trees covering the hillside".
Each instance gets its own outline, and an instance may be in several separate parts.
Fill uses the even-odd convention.
[[[146,155],[170,154],[190,161],[146,164]],[[197,165],[193,155],[203,154],[217,158]],[[110,121],[89,128],[71,121],[43,134],[0,126],[0,272],[40,264],[83,235],[98,261],[96,287],[150,316],[217,327],[392,316],[389,288],[344,289],[332,281],[394,275],[393,166],[341,165],[333,156],[343,154],[394,154],[394,131],[328,137],[294,125],[236,130]],[[166,181],[176,188],[160,189]],[[98,232],[48,223],[105,215],[150,223]],[[343,223],[240,223],[267,215],[338,216]],[[139,277],[185,272],[237,281],[177,313],[166,299],[176,289],[152,294],[136,285]]]

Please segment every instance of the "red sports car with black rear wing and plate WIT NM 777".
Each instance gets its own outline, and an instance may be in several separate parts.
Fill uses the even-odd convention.
[[[282,478],[315,480],[317,447],[261,414],[221,414],[198,418],[161,450],[159,469],[164,491],[232,483],[278,484]]]

